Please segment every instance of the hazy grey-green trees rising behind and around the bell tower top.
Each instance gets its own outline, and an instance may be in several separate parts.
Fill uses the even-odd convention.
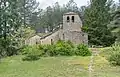
[[[81,18],[84,7],[79,8],[74,0],[69,0],[68,3],[60,6],[56,2],[53,6],[48,6],[45,10],[42,10],[39,15],[39,25],[35,26],[35,29],[46,29],[48,31],[53,31],[57,28],[63,21],[63,14],[67,12],[76,12]],[[57,17],[56,17],[57,16]]]

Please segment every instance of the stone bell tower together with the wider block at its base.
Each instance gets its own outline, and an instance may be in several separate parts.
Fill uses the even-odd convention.
[[[82,21],[78,14],[74,12],[63,15],[63,33],[61,40],[69,40],[75,44],[88,44],[88,34],[82,32]],[[60,36],[60,37],[61,37]]]

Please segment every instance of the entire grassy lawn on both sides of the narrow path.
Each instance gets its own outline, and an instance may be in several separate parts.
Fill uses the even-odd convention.
[[[89,77],[90,57],[46,57],[22,61],[12,56],[0,61],[0,77]],[[95,56],[92,77],[120,77],[120,67],[110,66],[105,57]]]

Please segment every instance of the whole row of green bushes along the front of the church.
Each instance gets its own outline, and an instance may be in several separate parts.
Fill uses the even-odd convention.
[[[70,41],[59,40],[53,45],[26,46],[22,49],[22,54],[26,55],[24,60],[36,60],[40,56],[90,56],[91,52],[83,44],[74,45]]]

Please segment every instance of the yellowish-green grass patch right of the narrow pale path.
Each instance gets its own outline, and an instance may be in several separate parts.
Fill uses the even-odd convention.
[[[111,66],[105,57],[94,58],[93,77],[120,77],[120,67]]]

